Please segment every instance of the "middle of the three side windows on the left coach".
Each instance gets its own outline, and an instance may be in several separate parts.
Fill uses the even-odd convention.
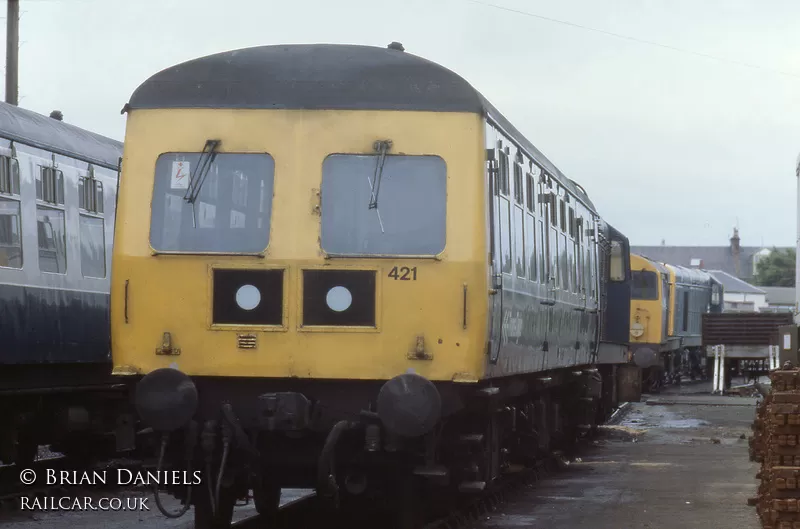
[[[36,172],[36,198],[39,269],[52,274],[66,274],[64,173],[55,167],[39,166]]]

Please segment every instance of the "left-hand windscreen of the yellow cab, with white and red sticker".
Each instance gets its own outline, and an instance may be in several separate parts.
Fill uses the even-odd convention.
[[[209,161],[200,152],[158,157],[150,245],[160,252],[263,252],[269,243],[275,161],[266,153],[217,153]],[[366,188],[369,196],[367,179],[357,176],[353,193]],[[381,214],[385,217],[383,209]]]

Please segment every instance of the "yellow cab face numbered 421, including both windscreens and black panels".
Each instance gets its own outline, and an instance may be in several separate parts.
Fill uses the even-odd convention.
[[[481,378],[482,146],[474,113],[131,112],[113,250],[115,371]],[[403,171],[427,176],[404,189]],[[392,207],[409,201],[417,214]]]

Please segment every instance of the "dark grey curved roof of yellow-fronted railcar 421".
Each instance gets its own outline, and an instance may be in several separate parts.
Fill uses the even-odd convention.
[[[391,48],[344,44],[259,46],[166,68],[131,95],[145,108],[417,110],[486,115],[564,187],[595,210],[563,175],[464,78]]]

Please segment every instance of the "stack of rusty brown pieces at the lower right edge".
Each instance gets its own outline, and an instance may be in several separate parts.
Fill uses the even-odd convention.
[[[751,439],[751,459],[761,461],[756,508],[764,529],[800,529],[800,370],[787,363],[770,379]]]

